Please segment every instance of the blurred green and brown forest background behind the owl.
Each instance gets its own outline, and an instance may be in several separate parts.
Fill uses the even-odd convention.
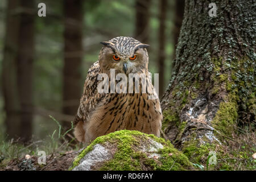
[[[46,17],[38,4],[46,4]],[[160,97],[172,73],[184,0],[1,0],[0,140],[45,139],[71,127],[86,73],[100,42],[131,36],[160,73]]]

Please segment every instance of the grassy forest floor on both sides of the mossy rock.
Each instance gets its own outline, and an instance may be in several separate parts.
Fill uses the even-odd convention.
[[[57,122],[57,121],[56,121]],[[59,124],[59,122],[57,122]],[[59,125],[60,126],[60,125]],[[72,126],[73,127],[73,126]],[[70,131],[70,130],[69,130]],[[69,139],[67,139],[67,137]],[[61,126],[58,132],[53,132],[47,140],[34,140],[27,145],[19,140],[2,140],[0,143],[0,171],[66,171],[72,166],[73,159],[83,148],[76,143],[75,138]],[[222,146],[216,166],[208,168],[208,154],[203,155],[197,170],[228,170],[228,171],[256,171],[256,133],[251,127],[243,127],[226,140]],[[46,164],[39,164],[39,152],[46,152]],[[42,158],[41,158],[42,159]],[[192,159],[191,162],[193,162]]]

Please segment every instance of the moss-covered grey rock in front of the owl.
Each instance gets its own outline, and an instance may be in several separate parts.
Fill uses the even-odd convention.
[[[121,130],[96,138],[69,170],[188,170],[192,163],[170,141]]]

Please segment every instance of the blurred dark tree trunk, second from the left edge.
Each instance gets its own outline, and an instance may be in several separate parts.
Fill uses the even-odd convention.
[[[20,137],[28,142],[32,136],[33,119],[33,62],[34,62],[34,1],[20,0],[20,26],[16,57],[20,100]]]

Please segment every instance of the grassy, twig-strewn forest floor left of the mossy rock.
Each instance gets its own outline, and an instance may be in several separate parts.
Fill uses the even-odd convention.
[[[44,140],[32,139],[23,144],[20,139],[5,140],[0,143],[0,171],[66,171],[71,166],[73,159],[80,151],[82,144],[69,134],[73,129],[63,130],[60,123],[51,115],[53,121],[59,126]],[[45,164],[42,153],[45,152]]]

